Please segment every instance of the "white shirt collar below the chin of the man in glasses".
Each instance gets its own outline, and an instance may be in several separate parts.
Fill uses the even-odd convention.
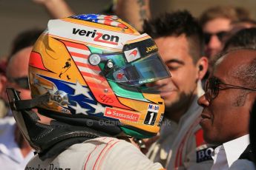
[[[246,150],[246,147],[249,145],[249,143],[249,135],[243,135],[242,137],[238,137],[234,140],[223,143],[229,167],[232,165],[232,163],[234,163],[235,160],[240,157],[244,150]]]

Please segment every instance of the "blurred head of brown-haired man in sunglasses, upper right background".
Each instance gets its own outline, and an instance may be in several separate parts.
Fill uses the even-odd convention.
[[[232,22],[249,18],[249,11],[242,7],[216,6],[205,10],[200,16],[200,25],[204,33],[206,56],[212,58],[222,50],[223,38],[232,30]]]

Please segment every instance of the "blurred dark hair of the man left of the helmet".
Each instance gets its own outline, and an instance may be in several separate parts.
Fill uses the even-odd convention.
[[[22,50],[25,47],[33,46],[36,43],[37,38],[42,34],[43,30],[33,29],[25,30],[22,33],[16,35],[13,40],[12,49],[10,51],[10,56]]]

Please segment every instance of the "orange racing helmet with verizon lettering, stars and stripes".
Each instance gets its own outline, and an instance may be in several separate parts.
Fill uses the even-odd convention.
[[[157,135],[164,101],[145,84],[170,77],[157,45],[117,16],[50,20],[30,54],[29,84],[39,114],[125,135]],[[112,132],[113,135],[113,132]]]

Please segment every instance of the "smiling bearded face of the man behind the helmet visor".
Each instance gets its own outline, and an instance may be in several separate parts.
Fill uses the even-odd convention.
[[[189,106],[197,89],[197,68],[189,54],[187,38],[185,35],[167,36],[156,38],[155,42],[171,72],[171,78],[157,81],[155,85],[165,100],[165,110],[179,112]]]

